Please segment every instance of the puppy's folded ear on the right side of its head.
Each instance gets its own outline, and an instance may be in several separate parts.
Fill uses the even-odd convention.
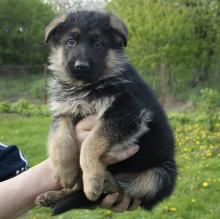
[[[110,26],[114,29],[122,39],[124,47],[127,46],[128,41],[128,29],[125,24],[114,14],[109,14],[110,16]]]

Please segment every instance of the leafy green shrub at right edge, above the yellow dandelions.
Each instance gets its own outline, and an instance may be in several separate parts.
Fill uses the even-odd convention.
[[[206,118],[208,129],[213,131],[218,118],[219,93],[209,88],[202,89],[200,93],[201,97],[198,102],[199,110]]]

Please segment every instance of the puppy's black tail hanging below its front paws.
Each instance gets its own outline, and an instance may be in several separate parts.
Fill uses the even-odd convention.
[[[71,209],[95,209],[104,196],[103,194],[98,200],[90,201],[86,198],[83,190],[79,190],[59,199],[53,206],[52,214],[58,215]]]

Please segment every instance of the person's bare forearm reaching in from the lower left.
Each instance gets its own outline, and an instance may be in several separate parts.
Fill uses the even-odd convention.
[[[60,189],[49,159],[0,183],[0,219],[15,218],[34,205],[37,195]]]

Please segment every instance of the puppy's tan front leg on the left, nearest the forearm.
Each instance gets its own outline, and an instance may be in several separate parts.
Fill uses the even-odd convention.
[[[61,187],[72,188],[79,174],[79,148],[74,138],[71,117],[53,122],[49,136],[49,156]]]

